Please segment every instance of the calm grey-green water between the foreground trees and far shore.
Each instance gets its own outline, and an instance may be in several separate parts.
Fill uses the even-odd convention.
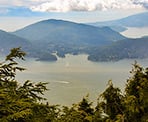
[[[147,66],[147,61],[138,60],[142,66]],[[27,59],[21,64],[27,70],[19,73],[17,79],[49,82],[50,90],[45,94],[49,103],[71,105],[79,102],[88,93],[90,99],[96,101],[110,79],[123,89],[132,63],[134,60],[94,63],[87,60],[87,55],[67,55],[57,62]]]

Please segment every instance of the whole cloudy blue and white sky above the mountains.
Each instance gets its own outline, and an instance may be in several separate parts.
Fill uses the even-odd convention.
[[[45,19],[108,21],[148,10],[148,0],[0,0],[0,29],[15,31]]]

